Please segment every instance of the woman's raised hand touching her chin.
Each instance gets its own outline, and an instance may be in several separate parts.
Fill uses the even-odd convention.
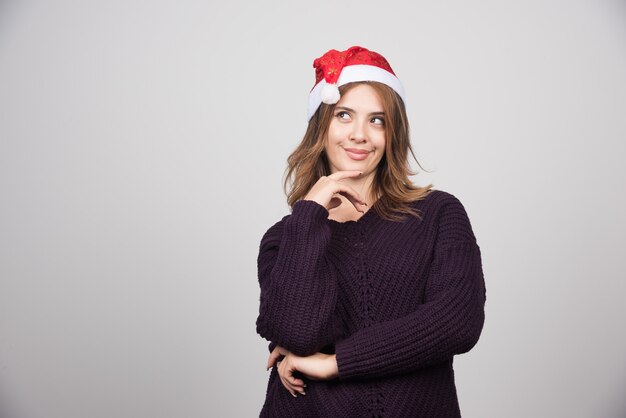
[[[341,205],[341,199],[334,196],[335,194],[340,194],[345,196],[356,210],[365,213],[367,204],[363,197],[354,188],[341,182],[341,179],[358,177],[361,174],[363,174],[361,171],[337,171],[329,176],[322,176],[311,187],[304,200],[313,200],[330,210]]]

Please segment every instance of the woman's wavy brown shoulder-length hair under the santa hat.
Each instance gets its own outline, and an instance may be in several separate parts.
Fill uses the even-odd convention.
[[[405,215],[421,219],[419,210],[411,207],[411,202],[424,199],[433,185],[420,187],[409,179],[416,174],[409,166],[409,152],[419,167],[422,166],[411,147],[404,102],[393,89],[375,81],[348,83],[339,87],[339,92],[344,95],[359,84],[368,84],[376,90],[385,112],[385,154],[372,182],[371,193],[377,200],[370,210],[391,221],[401,221]],[[300,145],[287,158],[283,189],[290,207],[306,196],[320,177],[331,174],[324,145],[334,110],[335,105],[321,104],[309,121]]]

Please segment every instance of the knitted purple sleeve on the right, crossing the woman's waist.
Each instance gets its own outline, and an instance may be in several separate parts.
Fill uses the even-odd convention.
[[[439,210],[425,301],[410,314],[361,329],[335,345],[340,379],[417,371],[469,351],[484,323],[480,248],[455,198]]]

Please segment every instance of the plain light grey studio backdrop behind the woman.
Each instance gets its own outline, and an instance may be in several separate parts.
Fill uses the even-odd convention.
[[[407,91],[481,246],[464,417],[626,416],[620,1],[0,2],[0,417],[253,417],[313,59]]]

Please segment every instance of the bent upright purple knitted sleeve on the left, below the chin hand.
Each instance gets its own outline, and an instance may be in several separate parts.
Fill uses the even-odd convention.
[[[261,287],[257,332],[292,353],[307,356],[334,341],[336,278],[326,258],[328,210],[300,200],[270,228],[257,259]]]

